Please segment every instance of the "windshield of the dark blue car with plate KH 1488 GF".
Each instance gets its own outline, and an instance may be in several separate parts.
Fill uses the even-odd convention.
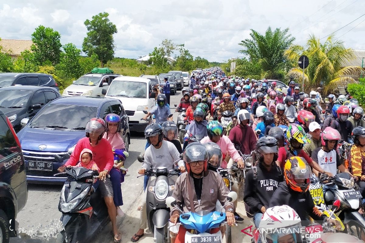
[[[97,107],[49,104],[35,115],[30,126],[81,130],[96,113]]]

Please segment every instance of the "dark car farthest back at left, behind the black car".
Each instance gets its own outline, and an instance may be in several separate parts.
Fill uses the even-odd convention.
[[[56,81],[49,74],[0,72],[0,88],[12,85],[54,87],[58,90]]]

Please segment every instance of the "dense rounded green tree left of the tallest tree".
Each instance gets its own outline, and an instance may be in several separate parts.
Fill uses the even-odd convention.
[[[35,60],[43,65],[51,62],[53,65],[59,62],[61,55],[61,35],[50,27],[42,25],[35,28],[32,34],[31,50],[34,52]]]

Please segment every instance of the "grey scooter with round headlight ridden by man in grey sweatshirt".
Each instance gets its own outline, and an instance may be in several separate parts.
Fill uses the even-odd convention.
[[[137,157],[139,162],[143,162],[142,155]],[[171,176],[178,176],[180,170],[173,169],[168,171],[165,167],[157,168],[157,171],[147,169],[145,175],[155,176],[150,180],[147,186],[146,196],[146,212],[148,227],[154,234],[154,242],[164,243],[169,242],[170,234],[168,230],[168,222],[170,219],[170,209],[166,206],[166,198],[172,195],[175,181]],[[145,176],[141,175],[141,176]],[[140,177],[140,176],[138,176]]]

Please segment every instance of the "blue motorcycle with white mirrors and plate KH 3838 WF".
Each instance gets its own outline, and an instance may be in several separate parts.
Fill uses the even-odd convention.
[[[230,192],[227,195],[228,201],[237,200],[237,193]],[[176,200],[173,197],[166,199],[166,204],[172,209],[176,205]],[[185,233],[185,243],[193,242],[210,242],[210,243],[222,243],[222,232],[218,231],[214,234],[210,234],[211,229],[219,228],[221,224],[226,224],[226,213],[225,212],[209,212],[209,211],[198,211],[198,212],[187,212],[180,211],[180,218],[177,225],[184,227],[188,231]],[[227,224],[226,224],[227,225]],[[174,226],[172,226],[174,227]],[[231,242],[231,228],[227,225],[226,242]]]

